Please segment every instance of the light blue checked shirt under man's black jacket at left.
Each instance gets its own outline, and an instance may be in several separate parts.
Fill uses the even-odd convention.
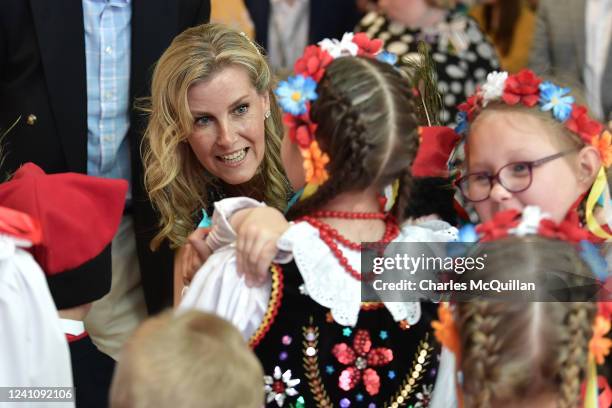
[[[130,0],[82,0],[87,67],[87,174],[131,183]],[[131,189],[128,191],[128,202]]]

